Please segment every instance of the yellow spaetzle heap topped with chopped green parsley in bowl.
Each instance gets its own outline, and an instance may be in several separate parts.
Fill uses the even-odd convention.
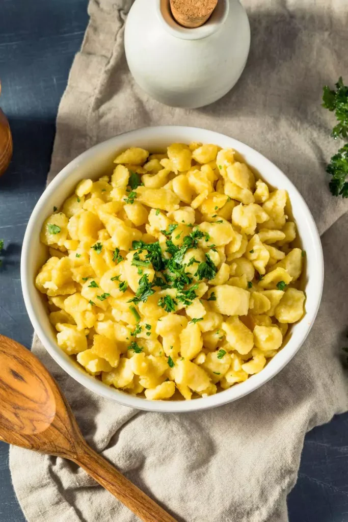
[[[304,314],[287,193],[215,145],[114,162],[42,227],[50,258],[35,283],[58,346],[147,399],[208,396],[261,371]]]

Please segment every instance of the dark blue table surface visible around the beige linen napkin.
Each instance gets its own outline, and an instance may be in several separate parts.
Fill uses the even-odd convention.
[[[45,186],[58,103],[88,22],[87,0],[0,4],[0,105],[14,139],[13,161],[0,179],[0,238],[5,240],[0,332],[29,347],[32,327],[20,288],[21,244]],[[289,495],[289,518],[348,522],[348,414],[306,436],[298,481]],[[24,520],[11,486],[8,448],[0,443],[0,522]]]

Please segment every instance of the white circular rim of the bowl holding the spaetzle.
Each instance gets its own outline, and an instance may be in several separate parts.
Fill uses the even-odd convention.
[[[231,388],[228,388],[226,390],[223,390],[222,392],[219,392],[215,395],[211,395],[208,397],[200,397],[193,400],[173,400],[173,401],[165,401],[165,400],[148,400],[142,397],[136,397],[129,395],[127,393],[122,392],[121,390],[117,390],[115,388],[111,388],[110,386],[106,386],[101,381],[98,381],[98,379],[95,379],[91,375],[88,375],[87,372],[83,372],[83,370],[80,370],[76,364],[73,362],[70,362],[69,359],[64,358],[63,352],[61,348],[59,348],[56,344],[51,342],[49,337],[46,335],[45,329],[41,326],[41,323],[39,321],[39,313],[37,310],[35,310],[35,306],[33,304],[33,301],[31,299],[31,292],[32,292],[32,281],[30,286],[30,279],[32,278],[32,274],[29,272],[28,264],[26,263],[28,253],[30,250],[30,244],[31,244],[31,238],[33,234],[35,233],[35,228],[37,228],[37,223],[42,221],[42,211],[44,209],[44,206],[46,204],[46,199],[49,198],[55,191],[55,189],[58,187],[58,185],[65,180],[66,177],[69,176],[78,166],[81,162],[85,161],[86,159],[92,157],[94,154],[98,153],[99,151],[103,150],[104,148],[107,148],[108,145],[115,144],[115,149],[117,148],[117,141],[123,141],[124,138],[129,138],[129,140],[133,139],[146,139],[145,134],[150,133],[150,135],[157,134],[163,138],[163,135],[165,134],[185,134],[185,133],[191,133],[191,135],[194,137],[195,132],[204,132],[210,135],[210,138],[207,138],[206,143],[216,143],[219,144],[219,139],[221,141],[224,140],[230,140],[231,141],[231,148],[236,149],[238,152],[245,155],[246,153],[249,153],[253,155],[255,158],[255,163],[266,162],[270,168],[275,171],[277,171],[277,175],[280,177],[280,185],[282,180],[286,180],[287,184],[290,184],[293,193],[295,194],[295,197],[298,198],[299,201],[302,203],[302,212],[305,213],[306,221],[309,226],[309,232],[311,233],[312,240],[315,246],[315,252],[313,255],[316,255],[318,257],[318,273],[317,273],[317,283],[315,286],[315,295],[314,295],[314,301],[315,301],[315,307],[311,309],[310,311],[306,311],[306,315],[301,319],[301,322],[304,321],[306,318],[306,326],[304,327],[304,332],[301,336],[301,340],[294,344],[294,346],[291,345],[291,340],[289,340],[284,348],[282,349],[282,352],[286,351],[286,357],[284,356],[282,358],[282,361],[275,361],[275,358],[273,358],[271,361],[275,361],[272,365],[270,365],[271,361],[266,365],[266,367],[261,370],[259,373],[252,375],[249,377],[246,381],[243,383],[238,383],[235,386],[232,386]],[[142,138],[143,137],[143,138]],[[186,138],[185,138],[186,140]],[[170,141],[170,138],[169,138]],[[126,147],[127,145],[122,145],[122,147]],[[131,146],[131,143],[129,144]],[[257,168],[257,167],[256,167]],[[263,176],[263,174],[262,174]],[[265,177],[267,181],[267,176]],[[292,200],[293,200],[292,195]],[[40,227],[41,228],[41,227]],[[311,253],[312,254],[312,253]],[[23,239],[23,245],[22,245],[22,252],[21,252],[21,263],[20,263],[20,276],[21,276],[21,286],[22,286],[22,293],[23,293],[23,299],[26,305],[26,309],[30,318],[30,321],[32,323],[32,326],[34,328],[34,331],[37,333],[40,341],[42,342],[43,346],[49,352],[51,357],[55,360],[55,362],[62,367],[62,369],[70,375],[70,377],[73,377],[75,381],[80,383],[82,386],[85,386],[87,389],[91,390],[92,392],[96,393],[97,395],[100,395],[106,399],[111,399],[119,404],[135,408],[138,410],[145,410],[145,411],[155,411],[155,412],[190,412],[190,411],[199,411],[199,410],[205,410],[214,408],[217,406],[225,405],[229,402],[232,402],[234,400],[237,400],[239,398],[244,397],[245,395],[253,392],[255,389],[259,388],[261,385],[267,383],[272,377],[277,375],[283,368],[286,366],[287,363],[290,362],[290,360],[294,357],[294,355],[297,353],[299,348],[303,345],[305,339],[307,338],[309,331],[311,330],[311,327],[313,326],[314,320],[316,318],[316,315],[319,310],[319,305],[321,301],[321,295],[322,295],[322,288],[323,288],[323,253],[322,253],[322,247],[320,242],[320,236],[314,221],[313,216],[310,213],[310,210],[302,197],[302,195],[298,192],[295,185],[291,182],[291,180],[270,160],[268,160],[265,156],[261,155],[260,152],[256,151],[252,147],[249,147],[248,145],[244,144],[242,141],[236,140],[235,138],[232,138],[230,136],[227,136],[225,134],[217,133],[214,131],[210,131],[208,129],[203,129],[201,127],[190,127],[190,126],[177,126],[177,125],[161,125],[161,126],[153,126],[153,127],[141,127],[138,129],[135,129],[133,131],[128,131],[122,134],[118,134],[117,136],[114,136],[112,138],[109,138],[107,140],[102,141],[101,143],[94,145],[93,147],[89,148],[85,152],[82,152],[77,158],[70,161],[51,181],[51,183],[46,186],[44,192],[40,196],[37,204],[35,205],[31,216],[28,221],[28,225],[26,228],[26,232]],[[37,291],[34,288],[34,291]]]

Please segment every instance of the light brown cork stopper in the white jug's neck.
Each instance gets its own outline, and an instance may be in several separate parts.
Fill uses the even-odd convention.
[[[172,15],[183,27],[200,27],[212,14],[218,0],[170,0]]]

